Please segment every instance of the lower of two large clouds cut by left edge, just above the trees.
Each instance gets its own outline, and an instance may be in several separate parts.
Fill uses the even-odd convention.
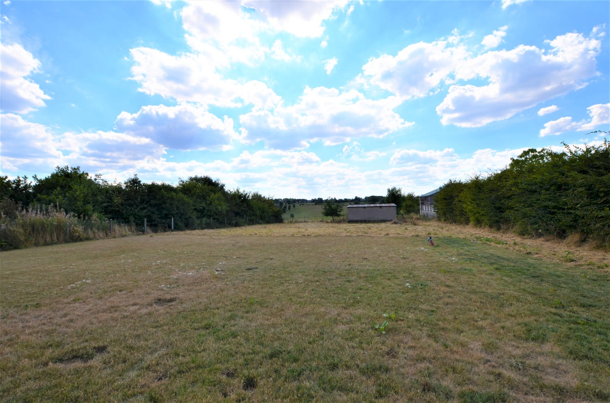
[[[23,117],[0,114],[0,150],[2,170],[43,170],[61,164],[62,152],[57,149],[49,128],[25,121]]]

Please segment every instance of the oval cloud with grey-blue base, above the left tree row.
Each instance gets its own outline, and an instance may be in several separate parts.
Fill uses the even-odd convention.
[[[237,138],[232,119],[224,116],[221,120],[205,108],[187,104],[149,105],[137,113],[122,112],[115,125],[127,135],[176,150],[221,149]]]

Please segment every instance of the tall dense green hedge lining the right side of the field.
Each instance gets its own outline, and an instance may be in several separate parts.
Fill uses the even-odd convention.
[[[449,181],[434,197],[437,217],[610,246],[610,143],[564,146],[529,149],[499,172]]]

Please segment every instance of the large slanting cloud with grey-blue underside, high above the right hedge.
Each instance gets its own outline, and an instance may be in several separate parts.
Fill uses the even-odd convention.
[[[598,38],[580,33],[547,41],[551,49],[520,45],[511,51],[490,51],[462,63],[456,79],[484,78],[488,85],[453,85],[436,108],[443,125],[481,127],[508,119],[537,103],[583,88],[598,75]]]

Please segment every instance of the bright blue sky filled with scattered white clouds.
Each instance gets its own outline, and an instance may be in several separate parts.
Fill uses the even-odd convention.
[[[0,175],[425,194],[610,139],[610,2],[0,4]]]

